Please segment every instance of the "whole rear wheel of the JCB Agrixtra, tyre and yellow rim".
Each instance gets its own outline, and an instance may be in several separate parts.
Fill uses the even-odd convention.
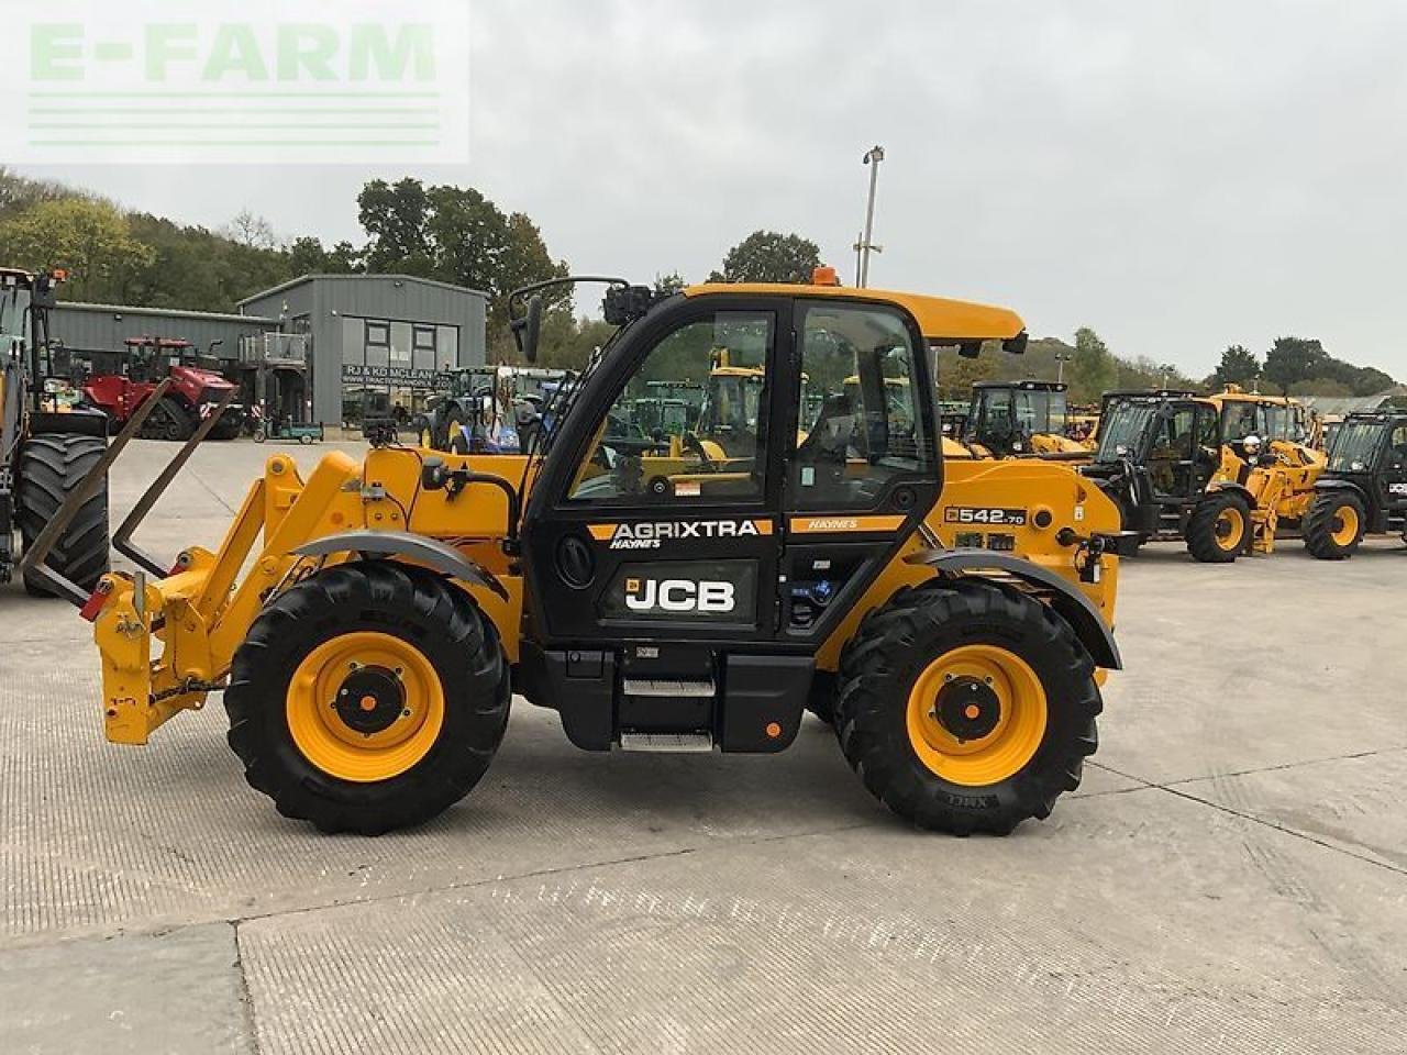
[[[899,591],[861,622],[839,684],[851,768],[936,831],[1005,836],[1045,819],[1099,746],[1089,653],[1047,605],[992,582]]]

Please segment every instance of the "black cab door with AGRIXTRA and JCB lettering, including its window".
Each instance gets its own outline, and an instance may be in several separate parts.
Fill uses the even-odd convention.
[[[587,383],[525,520],[546,641],[763,641],[777,632],[775,394],[785,298],[678,298]],[[644,411],[668,388],[677,423]]]

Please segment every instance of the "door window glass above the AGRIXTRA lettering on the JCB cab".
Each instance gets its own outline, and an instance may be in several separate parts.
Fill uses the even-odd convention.
[[[611,404],[568,499],[761,498],[771,346],[770,312],[715,312],[664,336]]]

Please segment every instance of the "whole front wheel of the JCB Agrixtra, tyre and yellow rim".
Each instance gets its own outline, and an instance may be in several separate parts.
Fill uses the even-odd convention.
[[[421,568],[362,561],[265,609],[235,653],[225,709],[245,778],[280,813],[377,836],[470,792],[509,698],[498,634],[469,595]]]

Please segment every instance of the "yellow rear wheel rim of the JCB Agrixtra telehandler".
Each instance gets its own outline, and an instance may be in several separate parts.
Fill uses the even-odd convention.
[[[1045,738],[1041,679],[1016,653],[968,644],[930,663],[909,691],[909,743],[953,784],[981,788],[1013,776]]]

